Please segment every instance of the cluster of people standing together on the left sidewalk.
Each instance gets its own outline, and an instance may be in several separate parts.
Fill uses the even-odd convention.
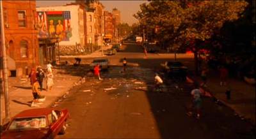
[[[46,90],[51,90],[53,83],[53,75],[52,75],[52,65],[49,62],[47,64],[47,72],[42,69],[41,66],[38,66],[37,70],[35,68],[31,69],[29,73],[30,84],[32,85],[32,94],[33,94],[33,101],[31,103],[31,107],[39,106],[42,102],[45,101],[45,96],[41,95],[40,91],[43,91],[44,86],[44,78],[46,77]],[[40,91],[38,90],[40,89]]]

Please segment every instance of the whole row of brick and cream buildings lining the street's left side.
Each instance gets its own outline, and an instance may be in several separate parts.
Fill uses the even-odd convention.
[[[8,70],[15,76],[55,62],[58,52],[84,54],[118,36],[120,11],[104,11],[99,1],[47,7],[36,7],[35,0],[2,2]]]

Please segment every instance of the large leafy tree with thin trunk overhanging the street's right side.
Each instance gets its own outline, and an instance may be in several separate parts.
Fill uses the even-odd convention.
[[[134,15],[147,29],[159,27],[156,38],[166,47],[186,46],[195,54],[198,73],[198,50],[205,40],[218,34],[225,22],[241,17],[246,1],[150,1],[140,5]]]

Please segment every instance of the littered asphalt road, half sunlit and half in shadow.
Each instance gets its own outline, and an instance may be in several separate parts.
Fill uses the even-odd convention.
[[[67,68],[68,73],[84,77],[85,82],[72,88],[58,104],[59,108],[68,108],[71,118],[67,133],[57,138],[255,138],[252,125],[212,98],[203,97],[201,119],[188,117],[192,85],[161,73],[164,91],[154,91],[154,73],[168,57],[143,56],[138,45],[127,44],[123,52],[109,59],[118,65],[122,57],[127,57],[128,62],[139,66],[129,66],[125,73],[121,66],[111,66],[102,72],[102,81],[86,72],[88,65]]]

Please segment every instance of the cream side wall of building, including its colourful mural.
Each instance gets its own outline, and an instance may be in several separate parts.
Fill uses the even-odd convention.
[[[58,37],[61,55],[84,52],[86,45],[85,8],[81,4],[36,8],[39,38]]]

